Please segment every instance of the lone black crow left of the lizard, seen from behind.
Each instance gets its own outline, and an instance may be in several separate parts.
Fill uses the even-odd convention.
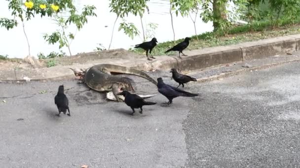
[[[64,93],[64,85],[60,85],[58,87],[58,92],[54,98],[54,102],[55,102],[58,112],[59,112],[58,116],[61,112],[64,112],[64,114],[66,114],[67,110],[69,112],[67,115],[71,116],[70,109],[69,109],[69,100]]]

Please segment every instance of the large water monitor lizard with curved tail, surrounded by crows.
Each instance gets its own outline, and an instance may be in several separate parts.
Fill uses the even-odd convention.
[[[152,79],[149,75],[142,71],[130,67],[124,67],[113,64],[98,64],[92,66],[85,73],[84,83],[93,90],[97,90],[100,92],[108,92],[108,98],[112,97],[113,94],[115,99],[109,99],[121,102],[124,100],[124,96],[117,95],[117,93],[120,92],[121,88],[124,88],[131,92],[135,92],[132,86],[133,80],[127,77],[115,76],[112,75],[112,73],[136,75],[145,78],[151,83],[157,85],[157,82],[154,79]],[[154,95],[156,94],[147,96],[141,95],[141,97],[148,98]]]

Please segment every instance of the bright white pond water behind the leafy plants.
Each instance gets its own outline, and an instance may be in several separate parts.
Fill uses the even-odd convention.
[[[72,54],[92,52],[99,46],[99,43],[108,49],[111,41],[112,26],[116,18],[116,15],[110,12],[109,0],[75,0],[74,3],[77,9],[81,9],[83,5],[86,4],[95,5],[98,17],[88,18],[88,23],[80,31],[76,31],[75,27],[68,28],[68,32],[75,33],[75,39],[71,43]],[[2,5],[0,6],[0,17],[12,18],[11,11],[8,11],[7,4],[7,1],[2,1]],[[147,12],[144,14],[144,28],[149,29],[149,26],[147,25],[151,23],[157,24],[155,31],[150,31],[150,34],[154,34],[158,42],[173,40],[173,31],[169,14],[169,0],[150,0],[148,5],[150,14]],[[194,14],[191,15],[194,17]],[[121,19],[118,19],[114,28],[111,49],[129,49],[135,44],[139,44],[143,41],[140,18],[129,15],[126,18],[126,21],[134,23],[139,29],[140,35],[131,39],[125,35],[122,30],[118,31],[119,23],[122,22]],[[176,39],[194,35],[193,22],[190,17],[176,17],[174,13],[173,22]],[[199,16],[196,20],[196,28],[198,34],[213,30],[212,23],[203,23]],[[48,55],[52,51],[59,51],[58,45],[49,45],[42,37],[44,33],[52,33],[56,29],[59,29],[59,27],[51,18],[41,19],[40,16],[36,16],[30,21],[25,21],[25,30],[29,38],[32,56],[37,56],[40,52]],[[27,42],[21,22],[16,28],[10,30],[0,28],[0,36],[0,55],[18,58],[23,58],[28,55]],[[147,38],[147,40],[150,39],[151,37]],[[62,50],[67,55],[69,54],[67,48],[63,48]]]

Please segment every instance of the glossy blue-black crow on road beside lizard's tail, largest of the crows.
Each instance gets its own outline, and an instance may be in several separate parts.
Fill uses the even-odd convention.
[[[158,92],[164,95],[169,100],[169,102],[164,103],[167,105],[170,105],[172,103],[172,100],[179,96],[184,96],[184,97],[198,96],[198,94],[189,93],[179,88],[170,86],[169,84],[165,84],[163,83],[162,78],[157,78],[157,87],[158,87]]]

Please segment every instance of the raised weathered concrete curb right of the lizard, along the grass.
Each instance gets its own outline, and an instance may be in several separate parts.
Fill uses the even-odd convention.
[[[293,53],[299,50],[300,34],[295,34],[228,46],[187,51],[185,54],[188,56],[182,56],[182,59],[176,56],[168,56],[168,59],[159,60],[160,62],[150,61],[143,64],[132,65],[132,67],[138,70],[148,71],[151,69],[170,70],[171,67],[178,68],[179,70],[196,70],[233,62]]]

